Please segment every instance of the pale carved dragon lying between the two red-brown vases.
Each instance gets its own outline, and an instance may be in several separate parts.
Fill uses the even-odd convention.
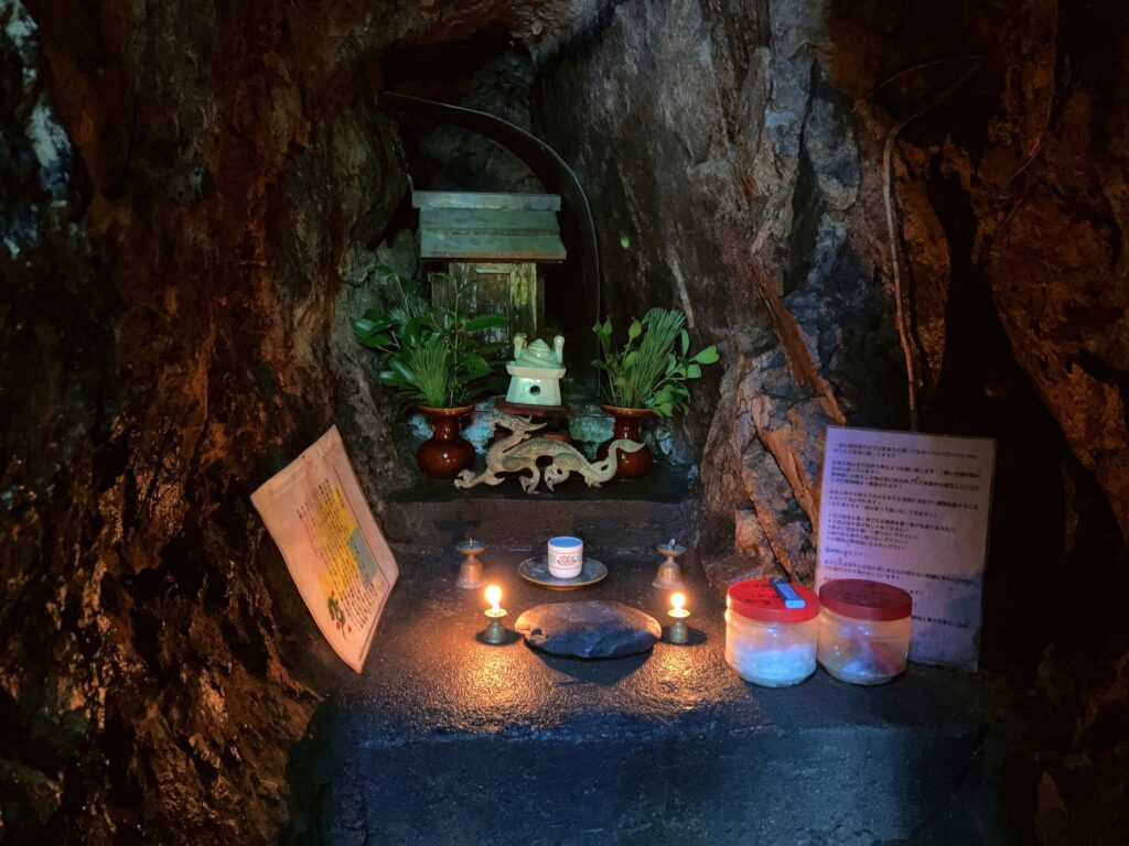
[[[619,460],[619,451],[634,452],[642,449],[641,443],[627,439],[612,441],[607,458],[603,461],[592,464],[576,447],[553,438],[532,438],[531,432],[541,429],[544,423],[533,424],[530,417],[515,417],[495,409],[491,428],[501,425],[510,431],[507,438],[502,438],[487,450],[487,469],[479,475],[473,470],[463,470],[455,479],[455,487],[474,487],[478,484],[499,485],[505,479],[499,475],[502,473],[518,473],[530,470],[528,476],[522,476],[522,490],[526,493],[536,491],[541,483],[542,470],[537,467],[539,458],[551,458],[552,462],[544,469],[545,486],[552,491],[553,486],[563,482],[571,473],[579,473],[589,487],[598,486],[607,482],[615,475]]]

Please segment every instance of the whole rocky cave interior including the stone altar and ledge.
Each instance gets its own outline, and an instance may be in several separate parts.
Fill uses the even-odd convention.
[[[0,844],[1122,843],[1127,20],[0,0]],[[716,345],[646,478],[423,477],[351,321],[394,305],[382,267],[445,270],[413,192],[559,188],[388,95],[502,118],[583,187],[598,276],[566,202],[542,336],[589,458],[596,314]],[[726,589],[813,583],[828,426],[913,424],[996,440],[979,670],[743,681]],[[400,566],[360,673],[251,502],[331,425]],[[584,598],[664,625],[675,536],[690,643],[483,643],[453,545],[490,545],[516,618],[572,598],[516,575],[552,534],[609,565]]]

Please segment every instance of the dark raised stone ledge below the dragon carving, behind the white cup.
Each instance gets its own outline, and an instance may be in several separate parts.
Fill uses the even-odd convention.
[[[695,509],[689,476],[689,468],[658,464],[641,479],[588,487],[574,476],[555,492],[534,494],[522,491],[516,478],[469,491],[419,478],[392,493],[380,521],[388,543],[404,554],[449,549],[469,537],[498,548],[540,550],[553,535],[576,535],[598,557],[650,549],[672,537],[684,540]]]

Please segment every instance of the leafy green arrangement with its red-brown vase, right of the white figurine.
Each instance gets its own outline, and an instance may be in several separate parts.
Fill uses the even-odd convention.
[[[627,343],[619,347],[612,344],[610,319],[597,323],[592,331],[604,354],[603,361],[592,362],[593,367],[607,377],[603,381],[607,403],[601,407],[614,418],[612,437],[599,446],[601,458],[607,457],[614,440],[628,438],[642,443],[642,423],[649,417],[684,413],[690,407],[686,382],[701,378],[702,365],[720,358],[712,345],[691,355],[685,317],[672,309],[653,308],[641,320],[632,320]],[[620,456],[615,476],[645,476],[654,460],[645,444],[638,452]]]

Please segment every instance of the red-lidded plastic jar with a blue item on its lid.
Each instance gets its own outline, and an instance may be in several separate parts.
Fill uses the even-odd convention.
[[[725,660],[746,681],[798,685],[815,671],[820,600],[802,584],[749,579],[726,592]]]

